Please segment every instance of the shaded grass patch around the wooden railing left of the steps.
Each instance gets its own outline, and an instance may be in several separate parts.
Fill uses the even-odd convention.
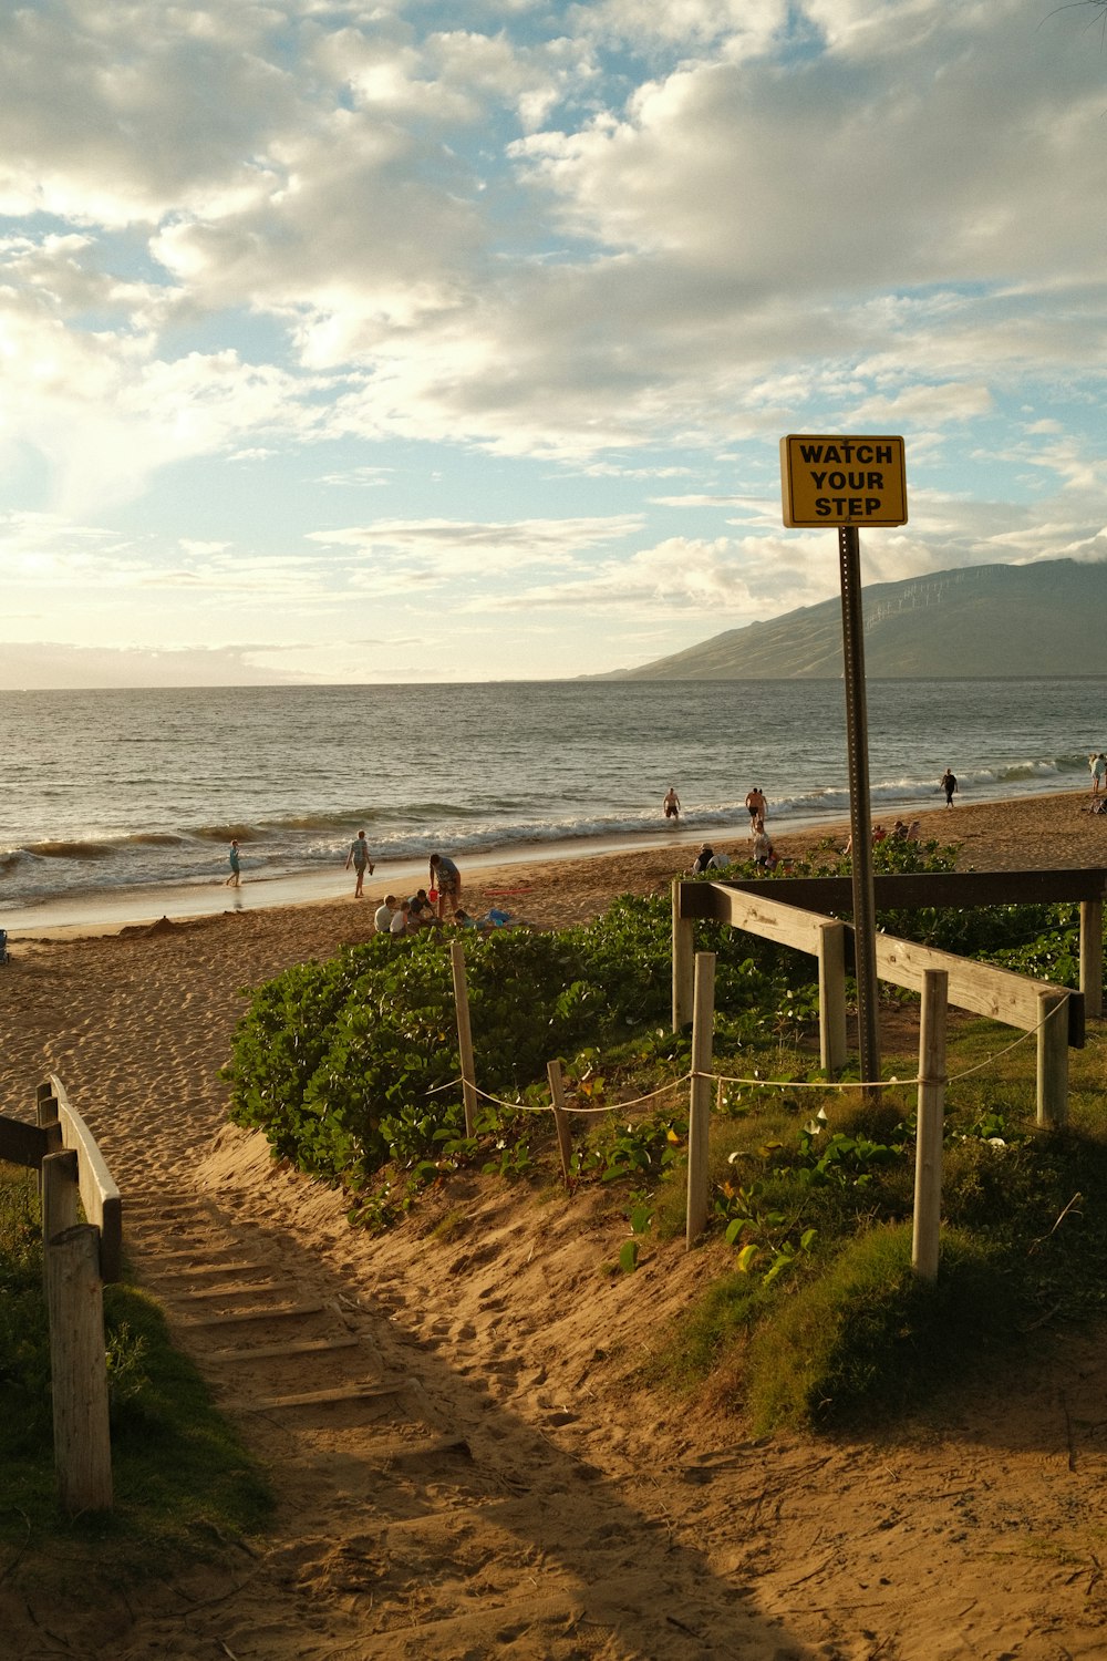
[[[261,1467],[173,1347],[161,1307],[105,1287],[115,1505],[61,1515],[53,1465],[50,1339],[35,1176],[0,1164],[0,1540],[20,1551],[63,1536],[134,1581],[181,1556],[261,1533],[272,1498]]]

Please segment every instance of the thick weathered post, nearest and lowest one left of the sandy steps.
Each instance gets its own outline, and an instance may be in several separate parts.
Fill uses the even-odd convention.
[[[58,1497],[70,1516],[111,1510],[111,1432],[100,1229],[91,1222],[45,1246],[53,1453]]]

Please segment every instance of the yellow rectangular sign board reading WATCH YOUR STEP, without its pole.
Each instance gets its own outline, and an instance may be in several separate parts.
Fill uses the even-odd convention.
[[[903,439],[780,440],[785,525],[906,525]]]

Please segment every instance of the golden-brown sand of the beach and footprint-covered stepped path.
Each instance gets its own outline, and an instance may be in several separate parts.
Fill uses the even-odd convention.
[[[976,869],[1107,864],[1084,802],[959,804],[924,832],[956,832]],[[513,889],[511,909],[564,924],[664,892],[694,850],[466,870],[466,899]],[[139,1598],[88,1571],[73,1586],[65,1553],[0,1561],[0,1653],[1102,1656],[1102,1334],[891,1437],[755,1442],[724,1402],[674,1407],[636,1374],[725,1247],[651,1242],[612,1274],[626,1224],[594,1194],[536,1204],[468,1176],[372,1239],[226,1123],[239,988],[365,938],[370,917],[344,899],[13,942],[2,1110],[32,1118],[37,1083],[61,1076],[123,1189],[136,1271],[271,1467],[279,1513],[257,1551]],[[319,1392],[335,1399],[302,1400]]]

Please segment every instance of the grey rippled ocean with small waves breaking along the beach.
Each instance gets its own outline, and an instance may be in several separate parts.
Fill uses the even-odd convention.
[[[946,766],[964,802],[1079,789],[1107,749],[1105,693],[870,681],[873,817],[939,806]],[[317,874],[330,897],[358,829],[387,875],[433,849],[656,842],[669,786],[692,835],[745,830],[753,784],[778,844],[850,811],[840,681],[0,693],[0,927],[199,897],[231,837],[247,884]]]

